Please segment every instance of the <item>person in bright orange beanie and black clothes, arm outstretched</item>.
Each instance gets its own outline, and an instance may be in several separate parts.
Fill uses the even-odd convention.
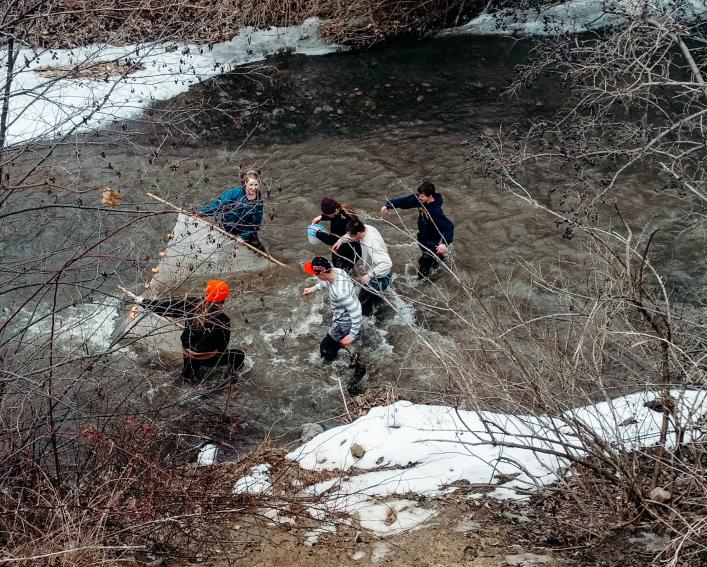
[[[201,368],[227,365],[235,374],[243,366],[245,353],[228,348],[231,320],[223,312],[223,304],[229,294],[230,288],[225,281],[210,280],[203,298],[147,300],[138,296],[135,300],[158,315],[184,319],[182,376],[187,380],[197,381]]]

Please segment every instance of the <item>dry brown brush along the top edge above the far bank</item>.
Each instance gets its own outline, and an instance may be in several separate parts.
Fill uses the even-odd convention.
[[[481,4],[464,0],[60,0],[25,18],[33,45],[76,46],[174,40],[216,43],[245,26],[288,26],[318,16],[331,41],[370,44],[400,35],[419,36],[432,27],[455,25]],[[34,3],[20,2],[18,13]]]

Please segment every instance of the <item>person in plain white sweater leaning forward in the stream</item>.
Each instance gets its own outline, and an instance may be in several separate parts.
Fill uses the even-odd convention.
[[[359,219],[349,221],[346,234],[332,247],[334,252],[347,241],[355,241],[361,245],[366,273],[359,279],[363,287],[358,298],[363,314],[371,315],[374,305],[381,301],[381,293],[388,289],[393,279],[393,262],[381,233],[370,224],[365,225]]]

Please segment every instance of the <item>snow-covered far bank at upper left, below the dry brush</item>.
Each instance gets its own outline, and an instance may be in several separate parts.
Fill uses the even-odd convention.
[[[206,45],[148,44],[114,47],[91,45],[77,49],[21,49],[12,83],[9,133],[6,143],[55,137],[108,126],[113,121],[140,115],[155,101],[170,99],[215,75],[239,65],[262,61],[289,51],[322,55],[340,50],[317,35],[319,22],[268,30],[244,28],[231,41]],[[7,65],[7,50],[0,64]],[[71,69],[110,63],[131,72],[124,77],[55,78],[38,70]]]

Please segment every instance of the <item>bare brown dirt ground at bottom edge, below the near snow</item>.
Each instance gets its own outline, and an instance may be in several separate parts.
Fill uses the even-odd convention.
[[[477,495],[478,496],[478,495]],[[339,565],[573,565],[552,552],[514,543],[514,517],[503,503],[463,494],[430,502],[438,514],[420,528],[387,538],[340,526],[314,545],[296,530],[263,526],[260,541],[244,543],[241,553],[218,563],[251,567],[334,567]],[[512,506],[516,508],[516,506]],[[505,514],[505,516],[504,516]]]

